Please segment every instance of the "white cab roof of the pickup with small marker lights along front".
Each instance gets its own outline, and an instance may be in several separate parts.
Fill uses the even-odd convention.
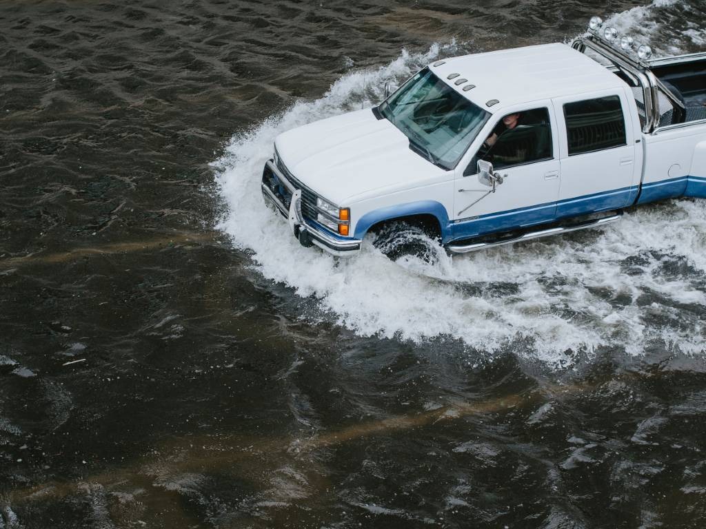
[[[465,55],[444,59],[443,64],[430,68],[450,87],[493,114],[513,104],[626,86],[608,68],[566,44]],[[458,75],[449,80],[454,73]],[[456,85],[460,79],[468,81]],[[463,91],[466,85],[476,87]],[[491,99],[498,99],[498,104],[487,107]]]

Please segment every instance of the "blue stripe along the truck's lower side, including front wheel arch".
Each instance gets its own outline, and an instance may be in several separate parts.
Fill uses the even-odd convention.
[[[635,202],[638,193],[640,193],[640,197]],[[532,226],[533,224],[542,224],[556,219],[575,217],[609,209],[620,209],[635,203],[644,204],[645,202],[674,197],[706,198],[706,178],[681,176],[679,178],[646,183],[642,185],[641,192],[640,186],[630,186],[602,193],[566,198],[558,202],[544,202],[543,204],[529,207],[507,209],[460,221],[449,221],[446,208],[443,207],[441,202],[433,200],[408,202],[407,204],[383,207],[365,214],[358,221],[355,237],[363,238],[366,231],[373,224],[377,224],[380,221],[416,214],[430,214],[438,219],[441,225],[442,240],[444,243],[448,243],[456,239]]]

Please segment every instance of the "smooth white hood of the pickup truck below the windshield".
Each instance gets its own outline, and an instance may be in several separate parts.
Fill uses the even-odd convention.
[[[318,195],[340,206],[418,186],[445,171],[409,149],[409,140],[370,109],[323,119],[275,140],[287,169]],[[373,193],[374,192],[374,193]]]

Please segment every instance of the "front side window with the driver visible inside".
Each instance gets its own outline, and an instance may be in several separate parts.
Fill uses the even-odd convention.
[[[479,159],[491,162],[495,169],[503,169],[553,156],[549,110],[545,107],[517,112],[498,121],[465,174],[476,173]]]

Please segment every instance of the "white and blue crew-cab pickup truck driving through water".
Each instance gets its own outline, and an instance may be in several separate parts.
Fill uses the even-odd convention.
[[[265,202],[349,256],[402,223],[465,253],[706,197],[706,52],[650,56],[594,17],[572,46],[436,61],[378,107],[279,135]]]

